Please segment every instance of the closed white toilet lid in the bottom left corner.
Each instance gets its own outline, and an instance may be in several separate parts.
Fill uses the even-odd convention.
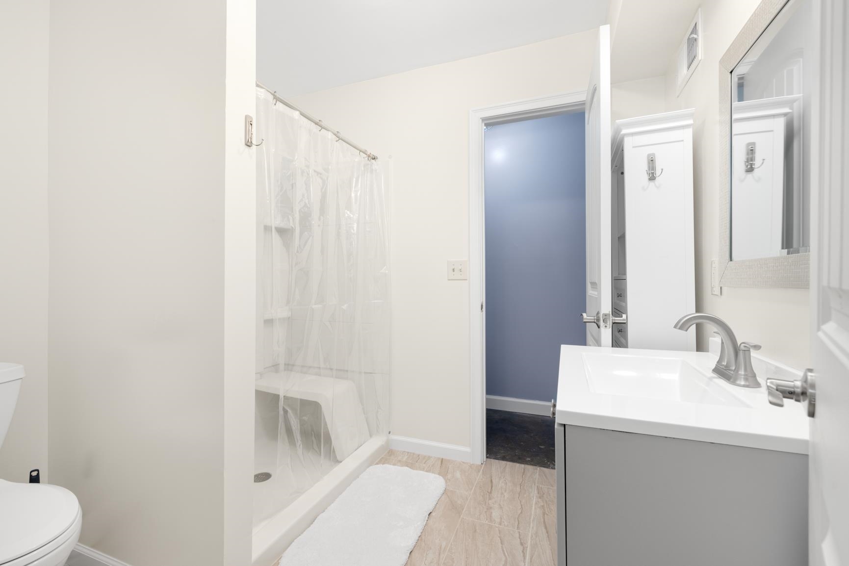
[[[0,479],[0,564],[41,548],[74,524],[76,496],[64,487]]]

